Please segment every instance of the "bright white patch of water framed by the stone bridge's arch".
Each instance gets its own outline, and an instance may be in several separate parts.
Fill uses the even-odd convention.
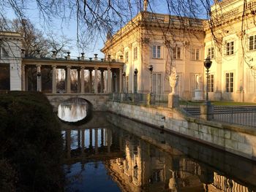
[[[77,122],[86,118],[89,105],[84,99],[68,99],[59,104],[58,117],[67,122]]]

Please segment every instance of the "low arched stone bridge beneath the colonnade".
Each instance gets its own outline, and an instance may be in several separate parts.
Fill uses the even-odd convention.
[[[85,99],[91,104],[93,111],[106,111],[107,110],[107,101],[109,99],[109,94],[99,93],[47,93],[45,94],[50,101],[50,104],[53,105],[53,111],[58,111],[59,104],[67,99],[80,98]]]

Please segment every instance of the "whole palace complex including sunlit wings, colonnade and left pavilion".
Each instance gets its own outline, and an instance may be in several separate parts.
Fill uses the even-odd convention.
[[[86,93],[83,82],[88,74],[89,93],[136,92],[161,97],[170,93],[169,76],[176,69],[176,92],[181,99],[203,100],[208,85],[210,100],[256,102],[255,0],[218,2],[211,6],[211,20],[152,13],[144,6],[116,34],[108,35],[102,48],[105,61],[98,61],[97,55],[85,60],[83,54],[76,61],[69,55],[66,60],[56,59],[54,53],[54,59],[23,58],[20,34],[1,32],[0,90],[33,88],[26,72],[34,67],[37,74],[41,68],[52,70],[48,92],[59,92],[54,80],[56,69],[62,69],[64,93],[72,93],[70,72],[75,70],[79,93]],[[207,57],[212,61],[208,81],[203,66]],[[93,80],[93,74],[99,80]],[[47,89],[43,77],[36,78],[33,90]]]

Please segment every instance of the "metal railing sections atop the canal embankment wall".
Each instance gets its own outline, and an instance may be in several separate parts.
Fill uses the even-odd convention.
[[[146,104],[151,107],[168,107],[168,95],[145,93],[113,93],[110,96],[113,101],[131,104]],[[202,102],[179,100],[178,108],[188,117],[201,119]],[[241,126],[256,127],[256,106],[220,106],[214,105],[214,121],[222,123],[234,123]]]

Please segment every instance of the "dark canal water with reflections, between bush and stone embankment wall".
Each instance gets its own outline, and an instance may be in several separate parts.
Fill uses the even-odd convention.
[[[62,123],[65,191],[256,191],[256,165],[107,112]]]

